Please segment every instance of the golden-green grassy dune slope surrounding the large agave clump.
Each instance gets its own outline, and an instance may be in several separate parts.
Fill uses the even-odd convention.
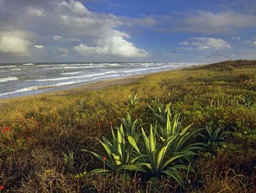
[[[152,109],[159,114],[157,107],[162,107],[165,116],[169,103],[170,118],[180,113],[181,128],[193,123],[186,144],[206,144],[194,151],[196,155],[182,151],[182,158],[170,163],[170,167],[189,166],[177,169],[182,183],[172,175],[122,168],[77,178],[84,171],[109,169],[111,157],[98,139],[106,136],[111,141],[111,128],[121,131],[118,118],[129,120],[127,112],[137,120],[134,138],[145,151],[141,125],[146,135],[150,123],[165,129],[166,122],[161,123]],[[157,148],[168,141],[159,135],[154,132]],[[79,88],[0,100],[0,192],[253,192],[255,147],[256,61],[161,72],[92,91]],[[98,153],[106,161],[82,150]]]

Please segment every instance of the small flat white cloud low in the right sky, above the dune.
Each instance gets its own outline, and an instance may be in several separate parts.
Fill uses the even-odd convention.
[[[182,45],[193,45],[198,50],[205,50],[205,49],[214,49],[214,50],[223,50],[223,49],[230,49],[231,44],[226,42],[221,38],[205,38],[205,37],[194,37],[188,40],[188,44]],[[180,49],[191,50],[192,47],[182,47]]]

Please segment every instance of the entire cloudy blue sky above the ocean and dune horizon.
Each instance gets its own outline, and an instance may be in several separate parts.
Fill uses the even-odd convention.
[[[0,0],[0,63],[255,59],[255,0]]]

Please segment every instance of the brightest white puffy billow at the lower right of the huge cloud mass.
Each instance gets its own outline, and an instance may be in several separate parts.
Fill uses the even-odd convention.
[[[148,53],[145,50],[138,49],[127,42],[121,36],[113,36],[100,40],[96,46],[80,44],[73,47],[74,50],[83,55],[99,54],[122,57],[145,57]]]

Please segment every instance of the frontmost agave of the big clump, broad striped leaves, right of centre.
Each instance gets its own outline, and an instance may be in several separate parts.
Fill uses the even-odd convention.
[[[179,174],[179,169],[187,169],[188,166],[177,164],[180,157],[193,155],[195,153],[180,151],[173,155],[170,155],[169,148],[176,141],[177,135],[169,138],[164,145],[157,143],[157,135],[150,125],[149,135],[145,134],[143,128],[141,128],[143,135],[143,141],[145,150],[143,150],[138,143],[129,136],[128,141],[133,146],[134,150],[138,153],[138,157],[134,158],[134,164],[121,166],[121,169],[127,169],[131,171],[140,171],[147,173],[150,176],[160,176],[166,174],[170,176],[180,185],[183,185],[182,178]]]

